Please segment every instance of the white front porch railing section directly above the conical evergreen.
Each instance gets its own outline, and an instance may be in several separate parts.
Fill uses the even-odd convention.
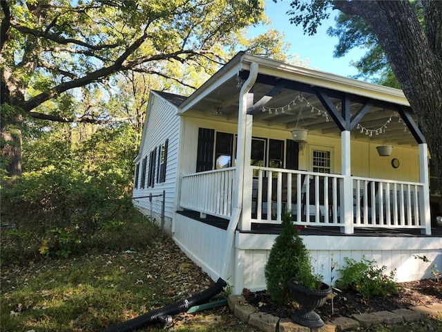
[[[298,225],[339,225],[339,174],[251,167],[253,179],[251,219],[256,223],[281,223],[291,210]]]

